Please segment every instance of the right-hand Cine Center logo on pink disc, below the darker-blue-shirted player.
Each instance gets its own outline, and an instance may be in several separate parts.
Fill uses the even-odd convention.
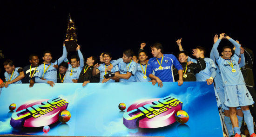
[[[182,110],[182,102],[174,97],[137,101],[129,106],[123,124],[129,129],[159,128],[173,124],[175,113]]]

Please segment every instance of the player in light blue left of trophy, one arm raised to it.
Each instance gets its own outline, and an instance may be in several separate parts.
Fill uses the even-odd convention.
[[[45,51],[43,55],[44,63],[37,67],[35,82],[48,83],[51,87],[54,87],[54,83],[57,82],[57,70],[54,68],[54,65],[60,65],[60,63],[63,62],[65,58],[67,58],[67,50],[65,44],[63,43],[62,56],[54,63],[51,62],[53,57],[50,51]]]

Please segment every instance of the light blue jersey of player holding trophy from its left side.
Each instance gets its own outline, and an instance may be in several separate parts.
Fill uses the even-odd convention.
[[[37,70],[35,73],[36,75],[35,82],[47,83],[47,81],[53,81],[54,83],[57,83],[57,70],[54,68],[54,65],[56,64],[60,65],[60,63],[63,62],[66,57],[67,57],[67,50],[66,50],[66,47],[63,46],[62,56],[57,61],[55,61],[54,63],[45,64],[45,70],[44,70],[44,64],[41,64],[40,66],[37,67]],[[49,68],[47,69],[47,67]],[[41,78],[46,79],[46,81],[41,80]]]

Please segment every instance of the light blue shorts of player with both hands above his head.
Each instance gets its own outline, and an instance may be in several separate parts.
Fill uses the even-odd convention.
[[[230,85],[224,87],[224,106],[239,107],[250,106],[254,101],[245,85]]]

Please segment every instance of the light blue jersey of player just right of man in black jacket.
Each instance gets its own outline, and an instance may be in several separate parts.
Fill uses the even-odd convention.
[[[214,68],[216,70],[216,65],[212,59],[205,57],[203,58],[203,60],[206,63],[206,67],[195,75],[196,81],[206,81],[211,77],[212,72],[210,71],[210,69]],[[192,59],[190,57],[188,58],[188,62],[189,61],[197,63],[196,59]]]

